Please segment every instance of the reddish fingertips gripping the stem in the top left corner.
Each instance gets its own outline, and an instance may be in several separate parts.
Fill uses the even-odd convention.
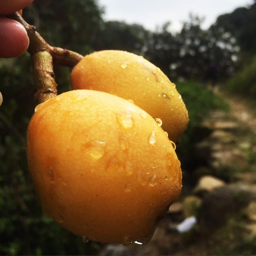
[[[34,0],[0,0],[0,58],[19,57],[29,45],[25,28],[16,20],[4,17],[19,11]],[[21,11],[20,11],[21,13]]]

